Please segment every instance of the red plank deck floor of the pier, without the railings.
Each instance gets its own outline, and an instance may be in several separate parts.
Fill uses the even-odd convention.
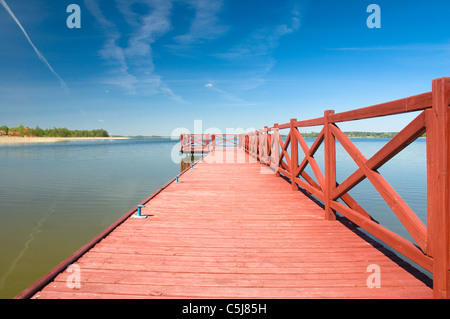
[[[323,208],[246,156],[210,153],[147,203],[146,219],[125,220],[75,262],[80,288],[68,287],[65,271],[33,298],[433,297],[393,254],[326,221]],[[367,286],[373,264],[380,288]]]

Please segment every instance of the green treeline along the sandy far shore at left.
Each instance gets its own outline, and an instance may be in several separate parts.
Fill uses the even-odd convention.
[[[27,136],[27,137],[109,137],[106,130],[69,130],[65,127],[54,127],[50,129],[42,129],[39,126],[35,128],[24,127],[19,125],[16,127],[0,126],[0,135],[10,136]]]

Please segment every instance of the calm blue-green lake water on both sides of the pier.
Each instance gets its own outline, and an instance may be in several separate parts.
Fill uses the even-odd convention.
[[[369,158],[388,140],[353,141]],[[171,158],[177,142],[1,146],[0,298],[16,296],[177,175],[180,164]],[[419,139],[379,170],[424,223],[425,151],[425,140]],[[321,153],[316,158],[323,167]],[[356,169],[339,146],[337,166],[338,181]],[[380,223],[410,239],[369,182],[350,194]]]

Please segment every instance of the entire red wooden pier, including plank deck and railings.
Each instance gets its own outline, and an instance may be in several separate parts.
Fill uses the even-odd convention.
[[[208,155],[141,203],[146,218],[130,210],[16,298],[449,298],[449,106],[450,78],[441,78],[432,92],[222,136],[234,148],[184,135],[180,151],[197,143]],[[337,126],[407,112],[418,115],[370,159]],[[308,146],[299,128],[319,125]],[[378,172],[424,133],[427,225]],[[340,182],[336,141],[358,166]],[[322,143],[324,172],[314,158]],[[414,242],[349,195],[366,178]]]

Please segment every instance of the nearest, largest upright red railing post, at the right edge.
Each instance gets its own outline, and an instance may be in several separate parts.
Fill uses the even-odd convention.
[[[427,253],[435,298],[450,298],[450,78],[433,80],[427,111]]]

